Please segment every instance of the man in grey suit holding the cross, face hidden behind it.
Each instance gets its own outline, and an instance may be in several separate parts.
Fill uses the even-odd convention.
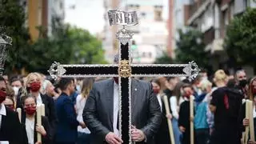
[[[118,56],[114,62],[118,62]],[[152,138],[161,123],[158,100],[149,82],[132,79],[131,90],[132,141],[153,143]],[[118,79],[110,78],[94,84],[83,119],[91,131],[92,143],[122,143],[118,137]]]

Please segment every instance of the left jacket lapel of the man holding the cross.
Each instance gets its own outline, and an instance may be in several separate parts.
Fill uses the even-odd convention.
[[[110,116],[110,122],[111,126],[113,126],[113,109],[114,109],[114,81],[110,79],[110,81],[106,85],[106,106],[110,106],[109,110],[109,116]]]

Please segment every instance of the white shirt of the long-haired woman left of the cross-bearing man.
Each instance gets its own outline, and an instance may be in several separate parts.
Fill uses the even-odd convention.
[[[86,106],[86,98],[83,98],[82,94],[79,94],[78,97],[76,98],[76,109],[77,109],[77,113],[78,113],[78,116],[77,116],[78,122],[83,122],[82,111],[85,106]],[[81,126],[78,126],[78,132],[90,134],[90,130],[87,127],[83,129]]]

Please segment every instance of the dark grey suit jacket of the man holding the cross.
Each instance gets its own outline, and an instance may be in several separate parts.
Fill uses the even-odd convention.
[[[131,89],[131,123],[143,131],[146,135],[146,143],[154,143],[154,135],[158,132],[162,120],[158,99],[153,93],[150,82],[133,79]],[[91,132],[92,144],[104,143],[106,134],[114,131],[113,97],[113,79],[94,83],[82,114]]]

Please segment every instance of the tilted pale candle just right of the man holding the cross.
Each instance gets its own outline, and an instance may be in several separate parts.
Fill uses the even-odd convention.
[[[170,114],[170,106],[169,106],[168,98],[167,98],[166,95],[163,96],[163,102],[164,102],[165,107],[166,107],[166,115],[168,115],[168,114]],[[167,124],[168,124],[169,134],[170,134],[170,143],[175,144],[175,142],[174,142],[174,130],[173,130],[173,126],[171,124],[171,120],[169,118],[167,118]]]

